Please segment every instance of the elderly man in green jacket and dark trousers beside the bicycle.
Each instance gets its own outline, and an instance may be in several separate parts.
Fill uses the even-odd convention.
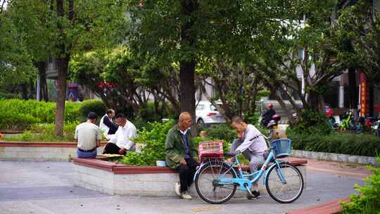
[[[188,188],[198,165],[198,152],[191,139],[191,114],[179,115],[179,123],[167,132],[165,150],[166,163],[179,171],[179,181],[175,183],[175,193],[182,199],[191,199]]]

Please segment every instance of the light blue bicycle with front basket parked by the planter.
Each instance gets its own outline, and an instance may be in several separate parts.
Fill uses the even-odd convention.
[[[236,157],[231,164],[226,163],[223,158],[207,158],[194,175],[196,192],[204,201],[220,204],[229,201],[237,187],[252,195],[253,183],[263,176],[263,184],[272,199],[279,203],[296,201],[303,192],[303,176],[298,168],[284,160],[277,160],[290,156],[290,151],[290,139],[270,142],[270,152],[265,163],[260,170],[248,175],[243,174]],[[239,173],[236,173],[236,169]]]

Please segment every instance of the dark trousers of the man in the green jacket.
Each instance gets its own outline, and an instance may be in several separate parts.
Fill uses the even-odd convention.
[[[196,172],[196,161],[193,158],[185,158],[186,165],[179,165],[177,170],[179,171],[179,181],[181,182],[181,192],[187,191],[193,182],[193,177]]]

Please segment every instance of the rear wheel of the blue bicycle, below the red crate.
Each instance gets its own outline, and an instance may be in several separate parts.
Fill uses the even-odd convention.
[[[198,195],[208,203],[224,203],[234,196],[236,185],[221,184],[220,178],[234,178],[236,172],[229,169],[226,163],[210,162],[201,168],[196,176],[196,192]]]

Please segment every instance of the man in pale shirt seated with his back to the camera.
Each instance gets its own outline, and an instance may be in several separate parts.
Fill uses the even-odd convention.
[[[83,122],[75,127],[75,141],[78,142],[78,158],[96,158],[96,147],[100,146],[101,130],[95,125],[96,113],[90,112],[87,115],[87,122]]]

